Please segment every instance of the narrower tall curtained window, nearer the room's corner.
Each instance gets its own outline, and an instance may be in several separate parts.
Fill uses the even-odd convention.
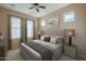
[[[34,37],[34,23],[27,20],[27,37]]]

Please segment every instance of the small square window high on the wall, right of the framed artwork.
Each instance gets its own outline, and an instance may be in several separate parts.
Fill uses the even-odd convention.
[[[64,13],[63,18],[65,23],[74,22],[74,11]]]

